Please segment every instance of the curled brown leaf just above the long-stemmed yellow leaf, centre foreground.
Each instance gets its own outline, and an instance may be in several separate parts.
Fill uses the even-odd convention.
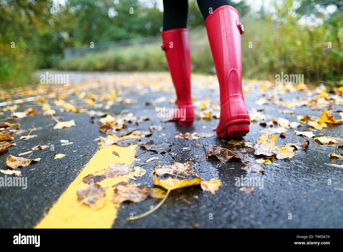
[[[154,172],[158,176],[163,176],[165,174],[176,175],[181,174],[185,176],[191,176],[196,173],[196,170],[190,161],[185,163],[175,162],[173,165],[159,165],[155,162]]]

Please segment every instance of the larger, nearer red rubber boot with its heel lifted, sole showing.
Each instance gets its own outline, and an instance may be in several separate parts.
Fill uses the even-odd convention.
[[[214,66],[220,88],[220,121],[216,128],[221,138],[245,136],[250,117],[242,91],[242,49],[238,11],[223,5],[213,11],[205,26],[210,41]]]

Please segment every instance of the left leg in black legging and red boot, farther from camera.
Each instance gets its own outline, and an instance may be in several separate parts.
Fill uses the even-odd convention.
[[[191,58],[187,26],[188,1],[163,0],[162,49],[166,53],[173,80],[178,110],[174,119],[180,125],[192,125],[195,115],[191,98]]]

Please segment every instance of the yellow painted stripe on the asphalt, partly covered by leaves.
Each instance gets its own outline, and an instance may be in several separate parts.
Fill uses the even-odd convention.
[[[129,135],[127,137],[137,136]],[[113,139],[111,136],[108,138]],[[108,187],[105,191],[105,205],[101,209],[93,210],[86,204],[80,204],[76,191],[88,186],[82,182],[85,176],[91,173],[101,175],[108,169],[109,164],[132,165],[136,147],[137,145],[128,147],[110,145],[100,148],[35,228],[111,228],[119,207],[119,204],[116,205],[113,202],[112,185],[126,181],[128,178],[126,176],[107,178],[98,183],[102,187]],[[113,155],[113,151],[117,152],[120,157]]]

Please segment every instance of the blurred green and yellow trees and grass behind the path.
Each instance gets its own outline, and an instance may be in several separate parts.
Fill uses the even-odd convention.
[[[242,53],[246,77],[271,79],[284,72],[304,74],[311,82],[343,84],[342,0],[287,0],[274,3],[272,12],[261,8],[257,13],[244,1],[231,3],[245,25]],[[336,10],[327,13],[328,6]],[[63,59],[64,48],[89,45],[90,41],[158,36],[162,17],[154,0],[149,6],[138,0],[66,0],[63,5],[52,0],[0,0],[0,85],[25,85],[39,68],[167,71],[159,42]],[[305,18],[305,24],[300,22]],[[209,73],[213,60],[204,21],[193,0],[189,1],[188,28],[192,70]],[[11,48],[12,41],[15,48]]]

